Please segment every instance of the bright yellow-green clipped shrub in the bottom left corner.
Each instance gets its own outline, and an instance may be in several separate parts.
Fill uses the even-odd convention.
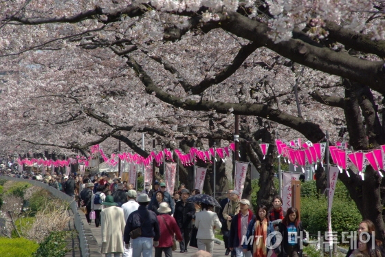
[[[39,245],[25,238],[0,237],[1,257],[30,257],[33,256]]]

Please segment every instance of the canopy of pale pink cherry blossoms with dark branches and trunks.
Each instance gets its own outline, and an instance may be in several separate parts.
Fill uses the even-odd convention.
[[[112,150],[120,139],[146,155],[140,133],[170,148],[189,139],[208,147],[230,140],[232,115],[243,115],[241,146],[261,169],[259,201],[267,201],[274,153],[261,161],[254,141],[272,142],[278,131],[319,142],[329,131],[354,150],[385,143],[383,8],[364,0],[3,1],[2,145]],[[339,178],[383,231],[381,177],[371,168],[364,181],[349,173]]]

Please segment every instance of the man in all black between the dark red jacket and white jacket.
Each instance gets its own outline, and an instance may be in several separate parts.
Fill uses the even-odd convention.
[[[194,203],[187,203],[186,200],[190,197],[190,192],[187,189],[181,190],[181,201],[175,205],[174,218],[177,221],[177,225],[181,231],[181,237],[183,241],[179,242],[180,252],[187,252],[188,242],[191,235],[191,220],[192,214],[195,214]]]

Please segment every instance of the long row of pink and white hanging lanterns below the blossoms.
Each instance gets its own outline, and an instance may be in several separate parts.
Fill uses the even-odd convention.
[[[292,141],[288,141],[285,139],[276,139],[276,148],[278,151],[278,157],[283,156],[283,159],[289,163],[294,164],[294,166],[302,168],[303,172],[305,172],[305,166],[311,165],[311,168],[316,169],[317,164],[321,164],[323,166],[323,161],[325,159],[325,150],[326,143],[318,142],[311,143],[310,141],[302,143],[301,139],[294,139]],[[261,152],[263,154],[263,159],[267,155],[270,144],[262,143],[259,144],[261,148]],[[192,147],[188,153],[181,153],[180,150],[175,149],[174,153],[179,158],[180,162],[184,166],[193,166],[193,162],[197,160],[197,158],[201,159],[205,162],[212,162],[212,157],[216,157],[217,155],[225,161],[226,157],[232,157],[232,153],[235,150],[235,144],[231,143],[228,146],[221,148],[209,148],[208,150],[200,150],[199,148]],[[152,151],[148,157],[144,158],[137,153],[118,153],[111,154],[111,157],[107,157],[100,148],[100,145],[94,145],[90,148],[91,155],[86,157],[76,156],[76,158],[67,158],[65,160],[52,160],[52,159],[17,159],[19,165],[28,165],[32,166],[37,164],[39,166],[69,166],[70,164],[84,164],[85,166],[89,166],[93,155],[100,154],[104,162],[111,166],[116,166],[118,164],[118,158],[122,161],[126,161],[129,164],[138,164],[144,166],[150,166],[153,161],[155,161],[157,166],[160,166],[164,163],[165,160],[174,161],[173,160],[173,152],[168,149],[164,149],[155,153]],[[336,164],[340,172],[347,169],[351,166],[355,166],[358,170],[358,175],[364,179],[364,172],[366,170],[366,166],[369,164],[373,167],[375,171],[379,173],[381,177],[382,172],[385,172],[385,145],[380,146],[380,149],[374,149],[369,152],[362,151],[352,151],[347,148],[346,142],[336,142],[335,146],[329,146],[329,152],[333,163]],[[347,172],[349,176],[349,172]]]

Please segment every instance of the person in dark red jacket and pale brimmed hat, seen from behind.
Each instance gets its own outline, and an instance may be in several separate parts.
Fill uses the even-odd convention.
[[[181,232],[177,222],[169,215],[171,209],[168,207],[168,203],[160,203],[157,212],[159,212],[157,222],[159,223],[159,230],[162,236],[159,238],[159,245],[155,247],[155,257],[162,257],[162,252],[164,252],[166,257],[172,257],[174,234],[177,236],[178,242],[181,242],[183,238],[181,238]]]

